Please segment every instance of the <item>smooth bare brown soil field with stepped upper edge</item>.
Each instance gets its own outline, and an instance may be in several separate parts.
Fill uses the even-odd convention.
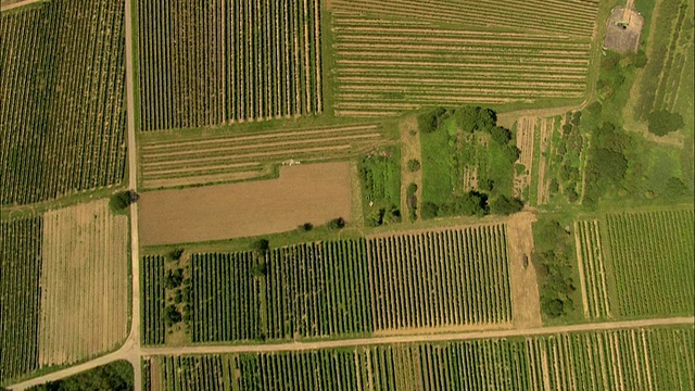
[[[143,245],[288,231],[304,223],[352,219],[350,164],[283,166],[278,179],[144,192]]]

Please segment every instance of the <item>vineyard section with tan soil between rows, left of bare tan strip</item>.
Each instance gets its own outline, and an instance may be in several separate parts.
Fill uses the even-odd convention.
[[[374,330],[511,320],[504,225],[368,239]]]

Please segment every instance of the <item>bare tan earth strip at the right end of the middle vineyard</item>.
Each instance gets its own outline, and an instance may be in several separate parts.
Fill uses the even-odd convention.
[[[519,329],[542,326],[538,279],[531,263],[533,222],[535,216],[529,212],[517,213],[507,222],[511,318],[514,326]]]

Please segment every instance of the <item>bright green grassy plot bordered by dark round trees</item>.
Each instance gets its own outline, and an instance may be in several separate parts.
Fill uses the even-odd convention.
[[[509,214],[519,149],[511,131],[496,124],[496,113],[479,106],[434,109],[419,115],[422,144],[424,218]],[[491,203],[489,204],[489,199]]]

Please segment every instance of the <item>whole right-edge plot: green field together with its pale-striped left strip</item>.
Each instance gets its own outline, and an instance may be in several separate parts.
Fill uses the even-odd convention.
[[[574,234],[587,317],[694,313],[692,209],[608,214]]]

